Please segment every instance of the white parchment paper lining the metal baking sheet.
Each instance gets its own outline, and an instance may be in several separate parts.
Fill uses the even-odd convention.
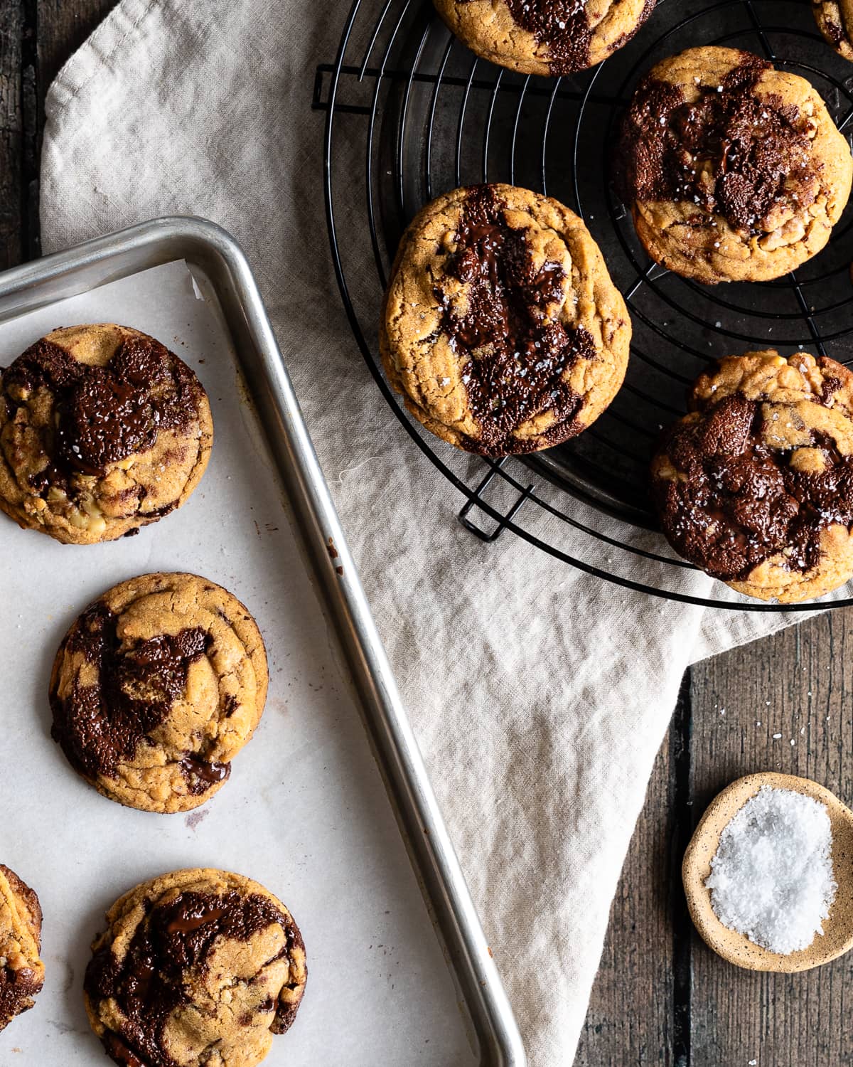
[[[291,909],[308,986],[270,1067],[477,1062],[358,713],[281,505],[219,316],[183,264],[0,324],[0,365],[49,330],[112,321],[158,337],[210,396],[214,446],[183,508],[138,537],[61,545],[0,515],[0,861],[44,909],[45,988],[0,1034],[0,1067],[104,1063],[82,1005],[88,945],[127,889],[166,871],[250,875]],[[203,808],[155,815],[100,797],[50,738],[47,687],[75,617],[114,583],[193,571],[253,611],[270,695],[230,780]]]

